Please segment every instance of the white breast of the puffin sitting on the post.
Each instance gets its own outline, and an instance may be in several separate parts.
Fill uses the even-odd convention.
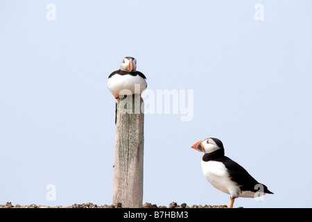
[[[107,80],[107,87],[116,97],[117,95],[141,94],[147,87],[146,80],[141,76],[114,74]]]

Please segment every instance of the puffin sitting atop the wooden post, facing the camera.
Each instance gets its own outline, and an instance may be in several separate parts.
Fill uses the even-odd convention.
[[[141,94],[147,87],[146,76],[137,71],[137,60],[126,56],[121,61],[119,70],[113,71],[107,80],[107,88],[115,97]]]

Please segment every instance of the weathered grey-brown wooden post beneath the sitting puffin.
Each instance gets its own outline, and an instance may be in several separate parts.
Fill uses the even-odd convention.
[[[141,110],[142,107],[142,110]],[[117,101],[113,204],[141,208],[143,202],[144,101],[140,95]]]

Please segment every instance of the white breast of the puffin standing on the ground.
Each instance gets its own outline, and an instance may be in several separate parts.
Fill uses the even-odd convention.
[[[241,193],[236,182],[229,178],[229,173],[222,162],[202,160],[202,173],[211,185],[229,194],[231,198],[236,198]]]

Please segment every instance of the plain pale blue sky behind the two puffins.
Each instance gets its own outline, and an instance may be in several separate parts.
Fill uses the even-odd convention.
[[[144,203],[229,205],[191,149],[217,137],[275,193],[234,207],[311,207],[311,18],[312,1],[1,0],[0,204],[112,203],[106,81],[132,56],[148,89],[194,95],[192,121],[145,116]]]

